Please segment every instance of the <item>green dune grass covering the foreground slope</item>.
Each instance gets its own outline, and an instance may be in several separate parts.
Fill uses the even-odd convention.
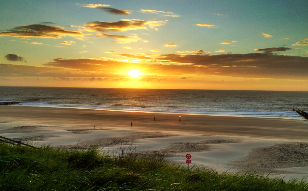
[[[132,147],[109,155],[96,148],[67,151],[0,143],[0,190],[308,190],[304,181],[188,169],[160,155],[138,153]]]

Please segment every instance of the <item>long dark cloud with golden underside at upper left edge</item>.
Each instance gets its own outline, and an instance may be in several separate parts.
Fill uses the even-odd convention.
[[[15,27],[8,32],[0,32],[0,36],[12,36],[23,38],[55,38],[59,39],[63,36],[84,37],[92,35],[91,33],[83,33],[81,31],[67,31],[63,27],[52,27],[42,24],[33,24],[23,27]]]

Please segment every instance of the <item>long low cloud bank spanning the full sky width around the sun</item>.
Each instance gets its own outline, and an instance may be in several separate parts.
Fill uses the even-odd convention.
[[[246,78],[308,79],[308,57],[284,56],[272,53],[183,55],[166,54],[135,56],[120,54],[125,59],[57,58],[43,66],[0,64],[0,77],[58,77],[58,78],[119,78],[120,72],[136,68],[144,77],[187,77],[217,75]],[[138,60],[136,60],[138,59]],[[134,61],[136,60],[136,61]],[[144,64],[141,61],[147,61]]]

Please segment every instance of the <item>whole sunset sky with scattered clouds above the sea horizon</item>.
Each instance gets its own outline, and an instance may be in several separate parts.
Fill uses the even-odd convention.
[[[306,0],[0,7],[0,85],[308,91]]]

